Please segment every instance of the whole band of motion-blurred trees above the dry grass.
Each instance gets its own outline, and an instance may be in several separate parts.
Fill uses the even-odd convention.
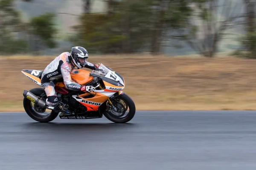
[[[255,0],[0,0],[1,54],[256,58]]]

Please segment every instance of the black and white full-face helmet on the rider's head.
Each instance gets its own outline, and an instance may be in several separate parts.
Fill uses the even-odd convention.
[[[88,60],[88,52],[85,48],[76,46],[71,48],[71,59],[78,68],[83,68]]]

